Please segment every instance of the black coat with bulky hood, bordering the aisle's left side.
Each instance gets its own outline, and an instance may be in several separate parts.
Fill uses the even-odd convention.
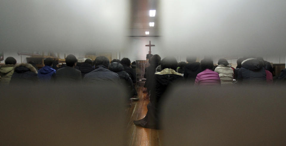
[[[119,80],[120,84],[125,86],[127,90],[130,91],[128,93],[129,97],[134,96],[135,88],[133,86],[133,82],[131,78],[129,77],[128,73],[126,73],[126,71],[124,70],[123,65],[118,62],[113,62],[109,65],[108,69],[118,74],[120,78]]]

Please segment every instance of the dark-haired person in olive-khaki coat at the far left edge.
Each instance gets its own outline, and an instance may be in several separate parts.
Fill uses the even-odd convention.
[[[17,61],[13,57],[7,57],[5,59],[5,65],[0,66],[0,85],[8,85],[10,83],[16,63]]]

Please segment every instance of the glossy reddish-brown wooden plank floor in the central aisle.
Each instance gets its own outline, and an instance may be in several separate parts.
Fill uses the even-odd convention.
[[[143,93],[142,87],[137,87],[139,101],[133,101],[131,107],[126,110],[127,145],[128,146],[161,146],[159,130],[135,126],[133,120],[144,118],[147,113],[149,99],[145,99],[147,93]]]

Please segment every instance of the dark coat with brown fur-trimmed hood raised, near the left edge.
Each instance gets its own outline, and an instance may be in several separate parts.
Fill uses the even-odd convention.
[[[32,64],[20,63],[15,65],[10,84],[35,84],[38,82],[38,72]]]

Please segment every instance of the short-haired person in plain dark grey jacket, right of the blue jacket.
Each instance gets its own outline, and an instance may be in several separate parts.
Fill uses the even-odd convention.
[[[56,83],[79,83],[81,73],[74,67],[77,65],[77,58],[69,54],[66,56],[66,67],[62,67],[56,72]]]

